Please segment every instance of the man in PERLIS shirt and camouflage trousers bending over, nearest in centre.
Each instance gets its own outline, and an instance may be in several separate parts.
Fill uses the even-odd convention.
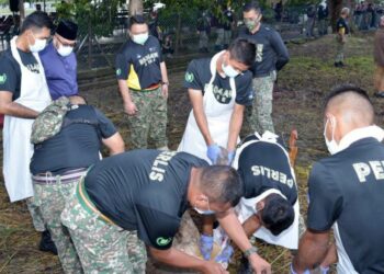
[[[127,255],[128,231],[137,233],[159,262],[225,273],[214,261],[172,248],[181,216],[191,205],[200,214],[215,212],[223,229],[248,254],[253,270],[270,274],[270,265],[251,248],[231,209],[241,190],[238,174],[229,167],[208,165],[185,152],[133,150],[94,164],[71,195],[61,221],[86,273],[137,273],[134,264],[145,260]],[[143,244],[136,248],[144,250]]]

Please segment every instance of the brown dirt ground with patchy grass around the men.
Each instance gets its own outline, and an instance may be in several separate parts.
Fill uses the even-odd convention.
[[[306,182],[310,165],[327,155],[323,137],[323,99],[331,87],[342,83],[361,85],[373,94],[372,41],[372,33],[351,37],[347,44],[347,67],[343,69],[332,66],[335,41],[331,35],[289,45],[292,58],[279,73],[276,89],[279,92],[274,94],[273,119],[276,132],[285,140],[293,128],[298,132],[296,175],[303,213],[306,212]],[[168,136],[171,149],[176,149],[181,139],[190,110],[187,91],[182,88],[183,66],[180,67],[170,72]],[[129,148],[127,125],[116,84],[81,92],[91,104],[100,107],[117,125]],[[372,101],[377,114],[377,124],[383,125],[384,101],[374,98]],[[10,204],[1,183],[0,273],[61,273],[56,256],[37,250],[38,240],[25,204]],[[287,273],[290,251],[262,243],[260,247],[259,253],[272,264],[273,273]],[[236,258],[238,254],[230,265],[231,273],[237,273]]]

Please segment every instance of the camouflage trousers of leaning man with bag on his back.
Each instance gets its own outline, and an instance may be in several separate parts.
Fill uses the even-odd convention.
[[[79,176],[81,176],[81,173],[79,173]],[[33,179],[36,204],[39,206],[43,219],[55,242],[65,273],[82,273],[81,263],[74,242],[70,239],[67,228],[63,226],[60,220],[60,214],[65,208],[68,197],[74,193],[79,176],[65,183],[60,182],[60,176],[47,178],[49,180],[56,179],[56,182],[45,184],[38,184]]]

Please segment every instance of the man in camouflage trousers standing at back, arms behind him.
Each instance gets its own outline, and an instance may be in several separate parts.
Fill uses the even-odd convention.
[[[282,69],[289,61],[289,53],[280,34],[261,24],[261,10],[255,3],[244,7],[246,28],[240,30],[239,36],[253,41],[256,44],[253,72],[255,101],[247,109],[246,122],[250,133],[274,133],[272,122],[272,92],[276,80],[276,70]]]

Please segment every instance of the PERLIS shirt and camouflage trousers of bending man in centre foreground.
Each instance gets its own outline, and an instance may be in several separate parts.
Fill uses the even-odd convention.
[[[184,152],[159,150],[134,150],[93,165],[61,214],[86,273],[144,273],[137,271],[146,263],[143,242],[171,248],[188,207],[191,170],[206,165]],[[126,241],[136,233],[143,242],[134,241],[128,253]]]

